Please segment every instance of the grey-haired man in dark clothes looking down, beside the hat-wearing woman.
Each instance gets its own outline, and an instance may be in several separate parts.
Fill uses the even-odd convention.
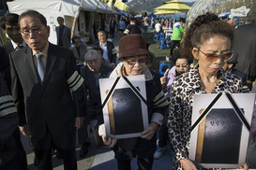
[[[98,78],[108,78],[113,71],[113,67],[102,64],[102,57],[97,50],[88,50],[84,55],[85,65],[81,67],[81,76],[86,79],[83,82],[83,94],[86,99],[87,115],[91,120],[98,120],[98,115],[102,115],[102,107],[99,93]],[[87,122],[78,130],[79,144],[83,145],[80,156],[83,158],[89,147],[87,135]]]

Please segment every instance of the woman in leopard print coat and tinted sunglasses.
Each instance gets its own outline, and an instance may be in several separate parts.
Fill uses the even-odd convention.
[[[241,78],[221,69],[233,57],[233,31],[232,25],[220,21],[212,13],[198,16],[186,31],[181,55],[192,54],[198,64],[175,78],[170,92],[167,127],[174,149],[173,169],[196,170],[200,167],[188,159],[194,94],[242,92]]]

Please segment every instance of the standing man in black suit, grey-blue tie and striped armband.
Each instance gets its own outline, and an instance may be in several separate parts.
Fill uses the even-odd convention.
[[[54,146],[65,169],[76,170],[75,131],[86,110],[74,54],[48,42],[50,27],[38,11],[23,12],[19,23],[28,47],[10,54],[10,71],[20,130],[31,135],[38,169],[53,169]]]

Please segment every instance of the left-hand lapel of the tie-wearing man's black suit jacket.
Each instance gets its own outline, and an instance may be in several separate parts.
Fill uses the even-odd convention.
[[[24,62],[26,64],[26,66],[28,67],[31,77],[34,79],[35,83],[37,84],[37,83],[39,83],[38,72],[37,72],[35,64],[34,64],[32,50],[30,48],[26,48],[26,50],[24,52],[26,53],[26,55],[24,57]]]

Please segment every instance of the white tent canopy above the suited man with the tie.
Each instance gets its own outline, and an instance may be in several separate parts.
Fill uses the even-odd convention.
[[[49,41],[56,44],[55,28],[58,26],[57,17],[78,17],[80,10],[98,13],[116,13],[111,7],[98,2],[98,0],[84,0],[80,8],[81,0],[14,0],[8,2],[11,13],[21,14],[28,9],[34,9],[43,14],[51,28]],[[66,21],[71,26],[72,19]]]

